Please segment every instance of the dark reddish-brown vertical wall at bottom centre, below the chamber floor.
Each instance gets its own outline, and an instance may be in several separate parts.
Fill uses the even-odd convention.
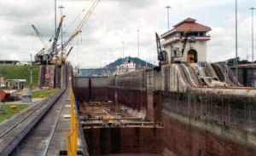
[[[162,128],[118,127],[84,129],[91,155],[162,153]]]

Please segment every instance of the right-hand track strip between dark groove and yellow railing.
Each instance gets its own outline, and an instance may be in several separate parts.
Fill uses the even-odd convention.
[[[55,155],[49,154],[49,148],[58,148],[52,145],[51,142],[55,136],[56,127],[60,122],[63,107],[68,104],[68,90],[66,90],[61,98],[55,101],[44,118],[30,131],[12,153],[9,155]],[[65,136],[63,136],[65,137]]]

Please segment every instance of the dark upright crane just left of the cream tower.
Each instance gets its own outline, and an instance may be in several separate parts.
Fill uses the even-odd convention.
[[[156,41],[157,58],[159,60],[159,66],[168,64],[167,52],[161,48],[160,37],[156,32],[155,32],[155,41]]]

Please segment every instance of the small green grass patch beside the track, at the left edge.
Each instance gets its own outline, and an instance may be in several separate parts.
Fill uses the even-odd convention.
[[[15,105],[17,106],[17,109],[15,110],[15,112],[11,110],[10,106],[12,105],[4,105],[4,104],[1,105],[3,109],[3,114],[0,114],[0,123],[3,122],[3,120],[13,116],[15,113],[19,113],[23,109],[26,109],[29,105]]]

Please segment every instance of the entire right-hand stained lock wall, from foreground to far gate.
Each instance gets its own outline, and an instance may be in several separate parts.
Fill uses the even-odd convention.
[[[172,64],[160,72],[99,78],[90,87],[96,88],[98,100],[163,122],[164,155],[255,155],[255,90],[195,87],[191,84],[198,84],[196,74],[189,70]],[[74,79],[76,97],[86,100],[88,78]]]

